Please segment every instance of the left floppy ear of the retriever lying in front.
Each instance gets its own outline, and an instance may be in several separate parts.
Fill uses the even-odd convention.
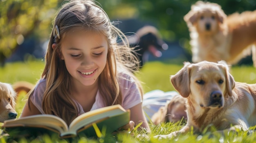
[[[190,94],[190,68],[191,63],[185,62],[183,68],[175,75],[171,76],[173,87],[182,97],[188,97]]]

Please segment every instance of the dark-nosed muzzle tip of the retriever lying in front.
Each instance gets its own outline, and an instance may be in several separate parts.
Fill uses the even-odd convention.
[[[218,107],[218,108],[220,108],[222,106],[223,106],[222,92],[220,92],[218,90],[211,92],[208,107]]]

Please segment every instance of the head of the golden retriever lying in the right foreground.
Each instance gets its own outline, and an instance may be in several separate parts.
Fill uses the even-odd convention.
[[[183,97],[201,107],[220,108],[225,98],[232,96],[235,81],[226,62],[184,63],[184,67],[171,76],[171,83]]]

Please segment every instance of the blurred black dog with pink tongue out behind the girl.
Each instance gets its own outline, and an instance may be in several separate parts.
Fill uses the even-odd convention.
[[[140,67],[148,61],[148,52],[155,57],[161,57],[161,51],[168,49],[168,45],[154,26],[143,26],[134,35],[128,36],[128,41],[130,47],[135,47],[134,51],[140,61]]]

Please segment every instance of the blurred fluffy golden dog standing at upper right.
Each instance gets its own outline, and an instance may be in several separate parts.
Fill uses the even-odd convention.
[[[191,37],[192,62],[237,64],[249,55],[256,67],[256,10],[226,15],[220,5],[198,1],[184,16]]]

